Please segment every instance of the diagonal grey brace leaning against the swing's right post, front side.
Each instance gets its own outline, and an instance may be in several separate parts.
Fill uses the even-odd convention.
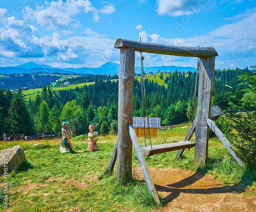
[[[224,144],[224,146],[227,148],[229,153],[234,157],[234,159],[241,165],[244,166],[244,162],[241,160],[241,158],[237,155],[236,152],[233,151],[234,147],[229,142],[227,137],[221,132],[221,130],[217,127],[217,125],[211,121],[210,119],[207,119],[207,124],[211,128],[212,131],[220,138],[221,142]]]

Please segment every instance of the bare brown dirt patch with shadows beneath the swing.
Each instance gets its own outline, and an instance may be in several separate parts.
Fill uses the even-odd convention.
[[[150,169],[156,190],[167,202],[157,211],[256,211],[256,195],[232,193],[230,186],[223,186],[209,175],[180,169]],[[140,168],[135,176],[143,180]]]

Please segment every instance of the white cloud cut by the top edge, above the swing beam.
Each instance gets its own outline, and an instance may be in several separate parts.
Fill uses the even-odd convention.
[[[215,0],[157,0],[157,12],[160,15],[180,16],[198,13],[201,9],[209,7]]]

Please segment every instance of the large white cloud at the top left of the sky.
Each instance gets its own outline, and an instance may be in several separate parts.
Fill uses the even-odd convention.
[[[48,30],[56,30],[58,28],[67,28],[72,22],[73,17],[80,13],[92,13],[93,19],[99,21],[97,10],[88,0],[67,0],[62,2],[50,2],[45,6],[37,6],[35,10],[25,7],[23,10],[25,19],[32,19]]]

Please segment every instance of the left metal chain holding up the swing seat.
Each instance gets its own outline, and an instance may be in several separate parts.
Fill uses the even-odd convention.
[[[148,134],[150,135],[150,146],[151,146],[151,149],[153,149],[152,141],[151,141],[151,133],[150,133],[150,121],[148,119],[148,113],[147,113],[146,89],[145,89],[145,81],[144,81],[145,73],[144,73],[144,65],[143,65],[144,57],[142,56],[142,51],[140,51],[140,59],[141,59],[141,93],[142,93],[144,143],[145,143],[145,147],[146,147],[146,131],[145,131],[145,114],[146,114]],[[144,106],[145,106],[145,108],[144,108]]]

